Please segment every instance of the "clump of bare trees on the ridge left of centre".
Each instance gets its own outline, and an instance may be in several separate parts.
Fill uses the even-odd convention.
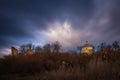
[[[25,53],[28,49],[32,50],[34,53],[59,53],[61,44],[58,41],[52,44],[47,43],[44,46],[35,46],[32,43],[29,43],[21,45],[19,51],[20,53]]]

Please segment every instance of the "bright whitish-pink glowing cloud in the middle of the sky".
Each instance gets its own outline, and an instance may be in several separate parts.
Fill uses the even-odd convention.
[[[48,26],[49,29],[44,32],[44,35],[49,41],[59,41],[66,47],[73,47],[79,43],[79,32],[77,30],[74,30],[68,22],[56,22]]]

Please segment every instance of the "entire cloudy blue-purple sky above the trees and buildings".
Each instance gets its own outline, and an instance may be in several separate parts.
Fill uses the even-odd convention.
[[[11,46],[120,41],[120,0],[0,0],[0,56]]]

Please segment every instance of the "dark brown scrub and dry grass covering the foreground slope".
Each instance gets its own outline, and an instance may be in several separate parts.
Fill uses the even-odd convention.
[[[120,53],[38,53],[0,59],[0,80],[120,80]]]

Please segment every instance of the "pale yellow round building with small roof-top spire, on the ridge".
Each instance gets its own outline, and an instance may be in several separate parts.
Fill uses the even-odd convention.
[[[94,46],[88,44],[88,41],[86,41],[86,44],[81,47],[81,53],[82,54],[93,54],[94,53]]]

